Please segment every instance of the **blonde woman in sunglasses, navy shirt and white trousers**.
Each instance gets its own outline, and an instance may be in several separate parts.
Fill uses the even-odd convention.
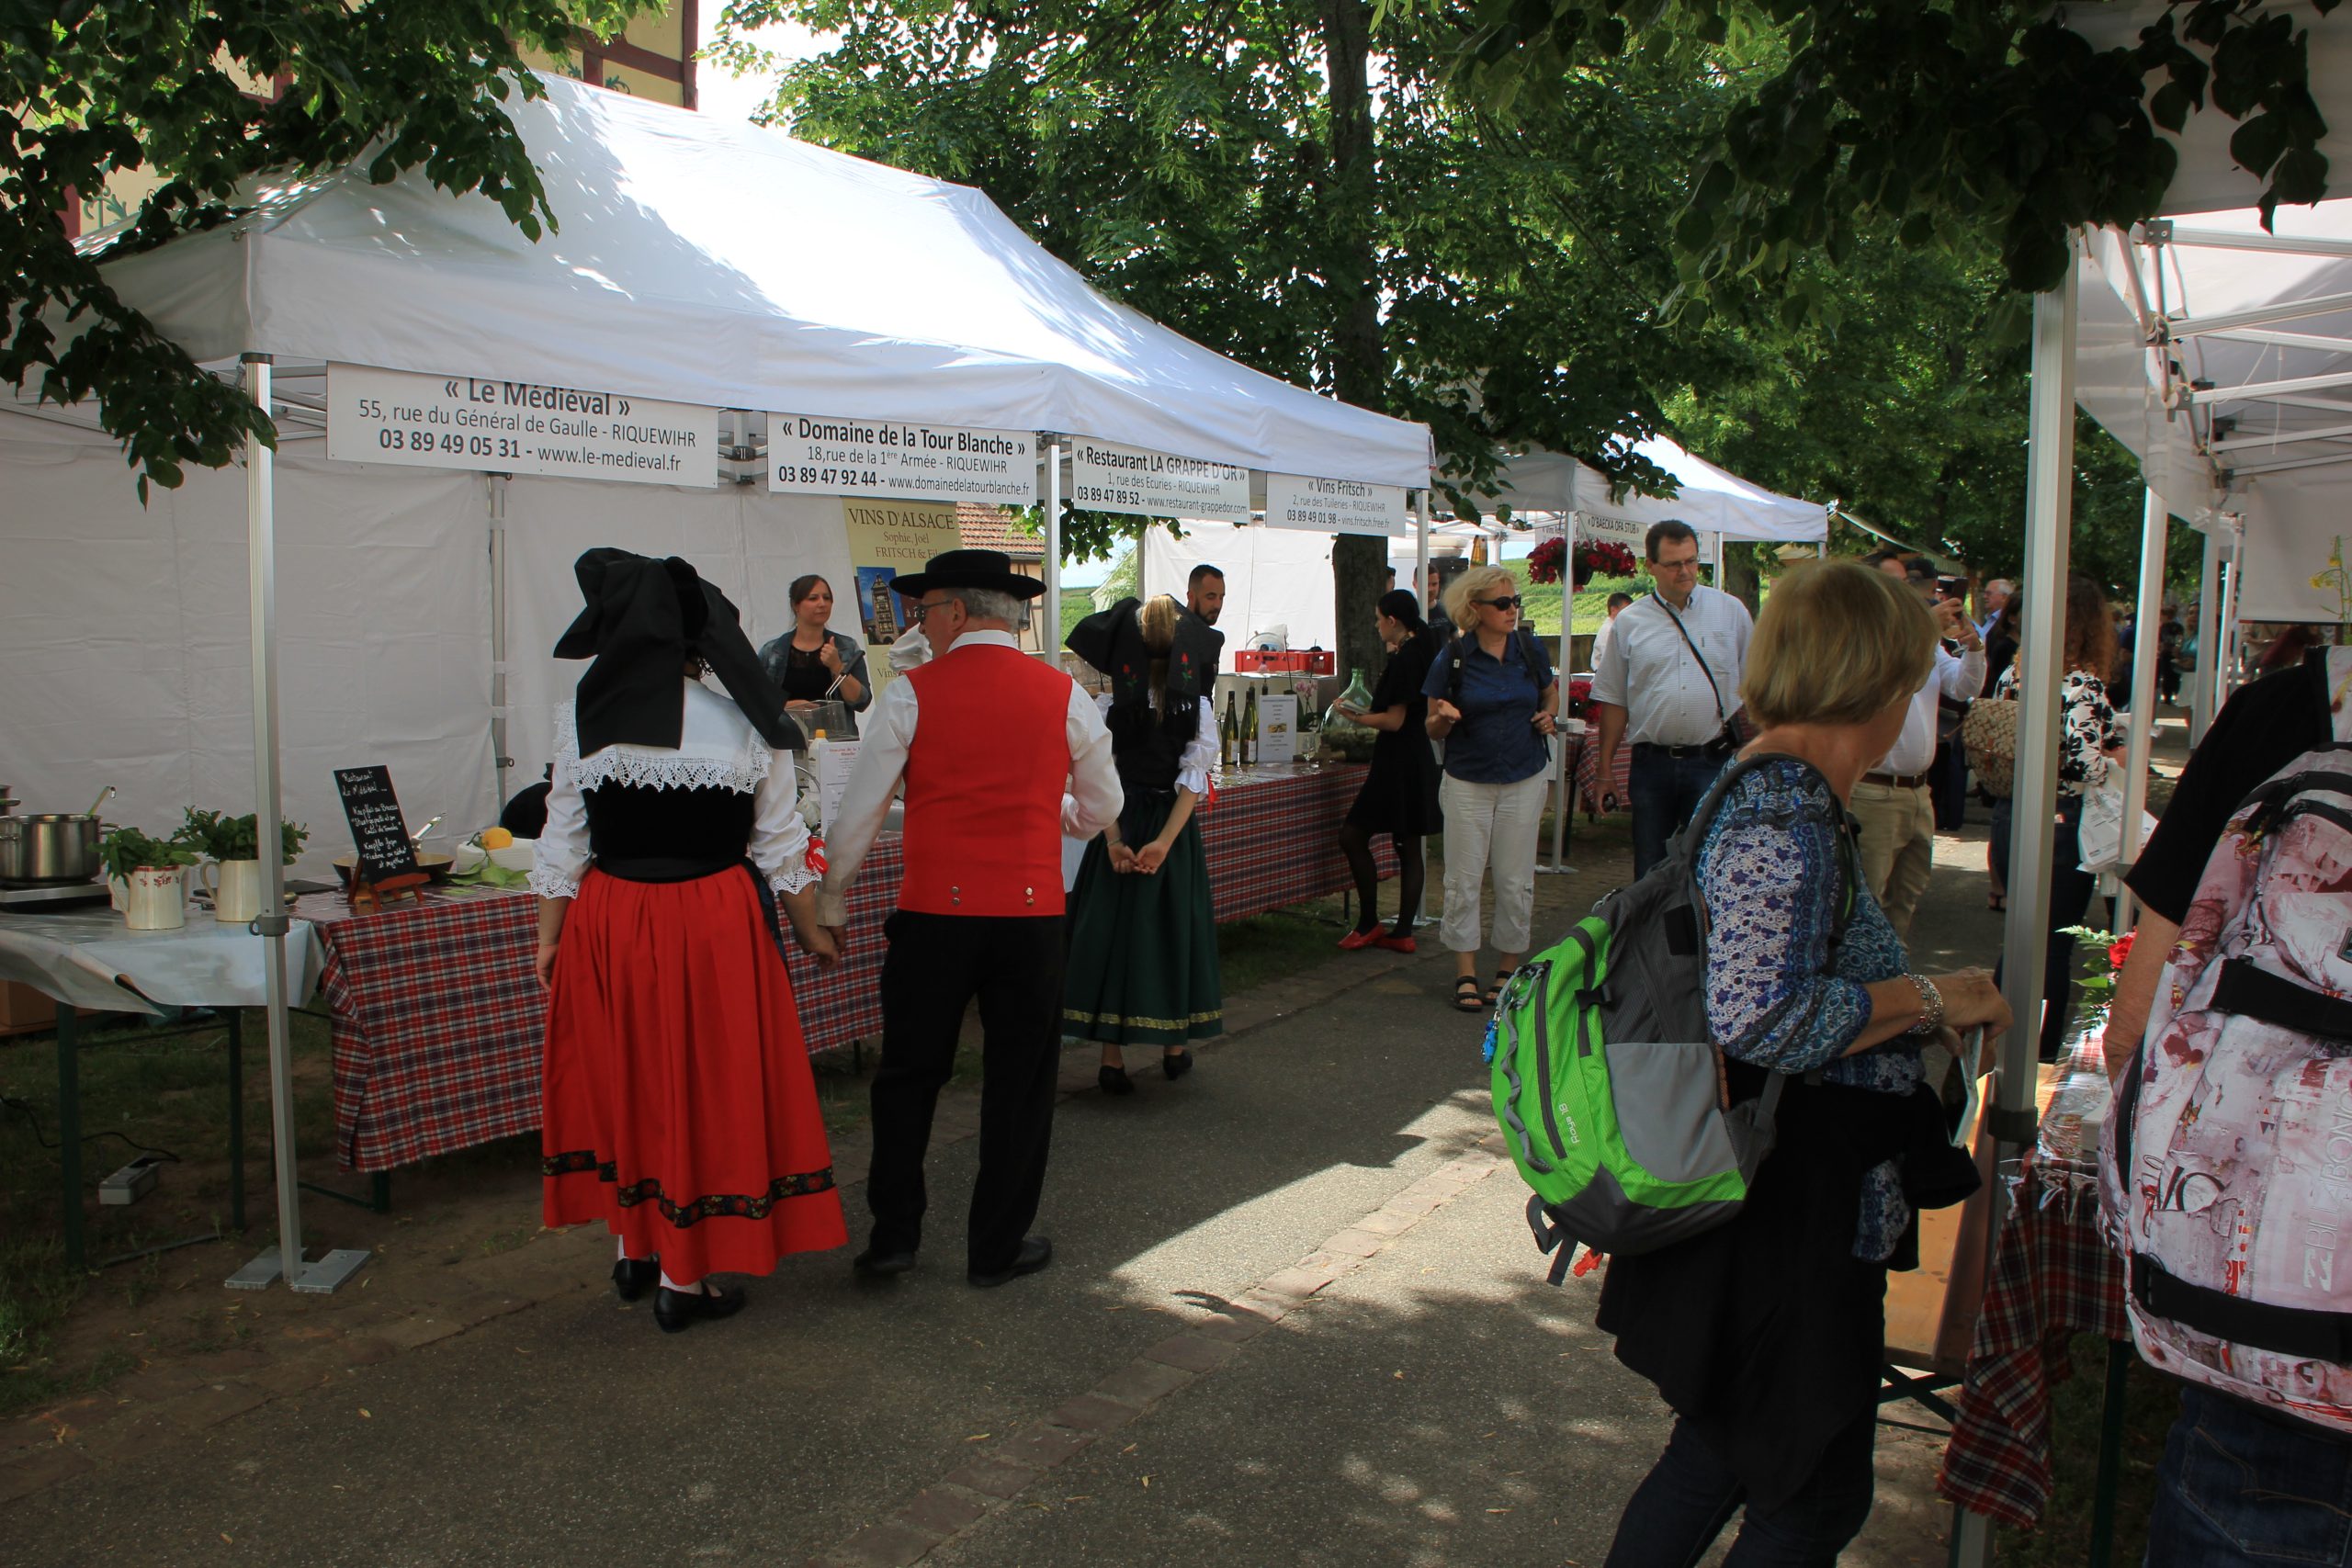
[[[1501,567],[1472,567],[1446,588],[1461,635],[1430,665],[1428,731],[1446,743],[1437,799],[1446,818],[1446,912],[1437,926],[1454,950],[1454,1006],[1494,1006],[1519,969],[1536,914],[1536,827],[1543,771],[1559,715],[1559,677],[1519,628],[1519,585]],[[1494,983],[1479,990],[1479,882],[1494,879]]]

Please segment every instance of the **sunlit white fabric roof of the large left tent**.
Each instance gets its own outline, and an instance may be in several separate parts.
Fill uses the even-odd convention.
[[[564,78],[510,103],[560,233],[412,169],[280,190],[108,282],[200,362],[379,364],[1117,440],[1423,487],[1423,425],[1112,303],[978,190]],[[287,388],[292,390],[292,388]]]

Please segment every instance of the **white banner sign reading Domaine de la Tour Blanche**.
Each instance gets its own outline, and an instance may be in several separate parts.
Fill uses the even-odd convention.
[[[1037,435],[769,414],[767,489],[776,496],[1037,505]]]

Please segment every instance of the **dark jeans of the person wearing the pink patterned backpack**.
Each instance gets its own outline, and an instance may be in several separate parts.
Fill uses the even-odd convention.
[[[2183,1389],[2157,1465],[2145,1563],[2352,1563],[2352,1441]]]

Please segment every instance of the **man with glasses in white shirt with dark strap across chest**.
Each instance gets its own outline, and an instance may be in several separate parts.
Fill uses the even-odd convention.
[[[1632,745],[1632,875],[1665,858],[1724,762],[1738,750],[1731,715],[1748,665],[1748,607],[1698,583],[1698,534],[1686,522],[1651,524],[1642,541],[1658,592],[1635,599],[1609,630],[1592,672],[1599,719],[1602,809],[1616,811],[1618,745]]]

